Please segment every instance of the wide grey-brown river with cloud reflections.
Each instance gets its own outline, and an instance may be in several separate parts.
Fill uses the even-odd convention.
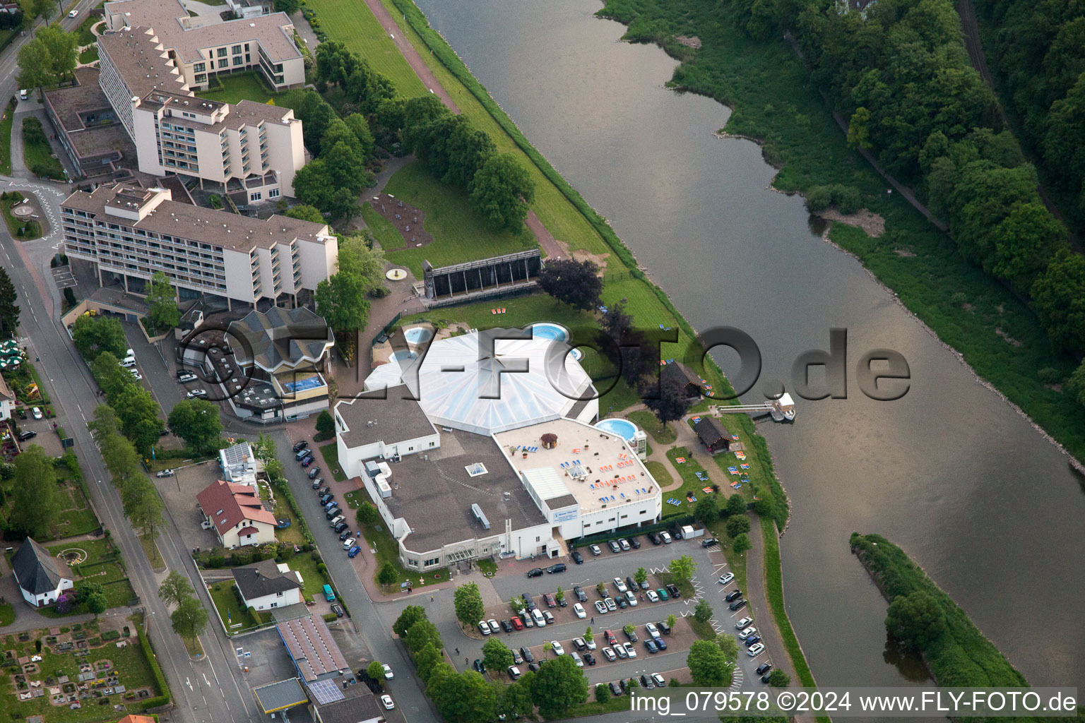
[[[818,682],[907,684],[886,604],[848,552],[860,531],[902,545],[1033,685],[1085,685],[1085,494],[1067,459],[812,232],[802,198],[767,190],[755,144],[713,135],[728,108],[666,90],[675,61],[618,42],[597,2],[419,5],[694,327],[753,336],[755,392],[847,328],[848,398],[799,400],[794,425],[760,427],[793,505],[787,605]],[[854,382],[876,347],[909,362],[901,401]]]

